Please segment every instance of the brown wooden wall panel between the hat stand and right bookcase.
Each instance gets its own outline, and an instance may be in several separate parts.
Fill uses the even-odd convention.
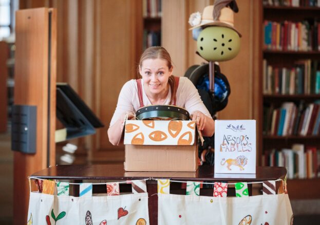
[[[234,14],[234,26],[242,34],[240,52],[236,58],[221,62],[222,73],[227,76],[231,95],[227,107],[219,112],[219,119],[252,119],[252,58],[253,7],[250,0],[238,2],[239,12]]]

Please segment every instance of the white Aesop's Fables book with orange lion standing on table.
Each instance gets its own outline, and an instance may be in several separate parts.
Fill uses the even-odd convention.
[[[256,173],[256,121],[215,121],[215,173]]]

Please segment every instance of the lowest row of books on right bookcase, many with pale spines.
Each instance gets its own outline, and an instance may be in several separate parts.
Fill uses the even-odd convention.
[[[285,166],[289,179],[320,177],[320,149],[304,144],[272,149],[262,155],[262,166]]]

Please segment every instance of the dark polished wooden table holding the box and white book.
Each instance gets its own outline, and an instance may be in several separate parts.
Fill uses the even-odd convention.
[[[234,175],[214,174],[213,166],[199,166],[197,172],[125,172],[122,165],[57,165],[31,175],[31,177],[57,180],[73,180],[81,183],[83,180],[147,180],[147,192],[149,195],[149,220],[150,224],[158,223],[158,196],[157,181],[155,179],[172,179],[180,181],[205,181],[205,182],[254,182],[264,180],[277,180],[286,176],[285,167],[257,166],[255,175]],[[249,177],[248,177],[249,176]],[[232,178],[231,178],[232,177]],[[185,194],[185,189],[181,189],[181,183],[171,183],[171,194]],[[252,193],[252,185],[248,184],[249,195]],[[120,192],[131,192],[130,184],[120,185]],[[103,185],[93,185],[92,193],[106,193]],[[234,190],[228,188],[228,196],[234,195]],[[74,185],[74,196],[79,196],[79,185]],[[200,195],[212,196],[213,189],[210,185],[200,190]]]

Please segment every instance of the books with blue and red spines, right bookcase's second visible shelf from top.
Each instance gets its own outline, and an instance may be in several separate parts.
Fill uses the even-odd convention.
[[[301,22],[263,22],[264,47],[284,51],[320,51],[320,24]]]

